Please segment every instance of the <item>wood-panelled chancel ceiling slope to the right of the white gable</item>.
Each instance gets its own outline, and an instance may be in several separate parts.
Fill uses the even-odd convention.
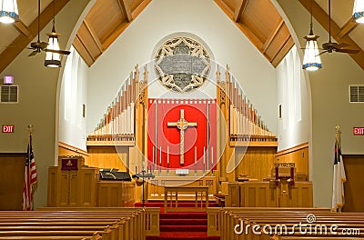
[[[277,66],[294,45],[287,25],[269,0],[215,2],[272,65]]]

